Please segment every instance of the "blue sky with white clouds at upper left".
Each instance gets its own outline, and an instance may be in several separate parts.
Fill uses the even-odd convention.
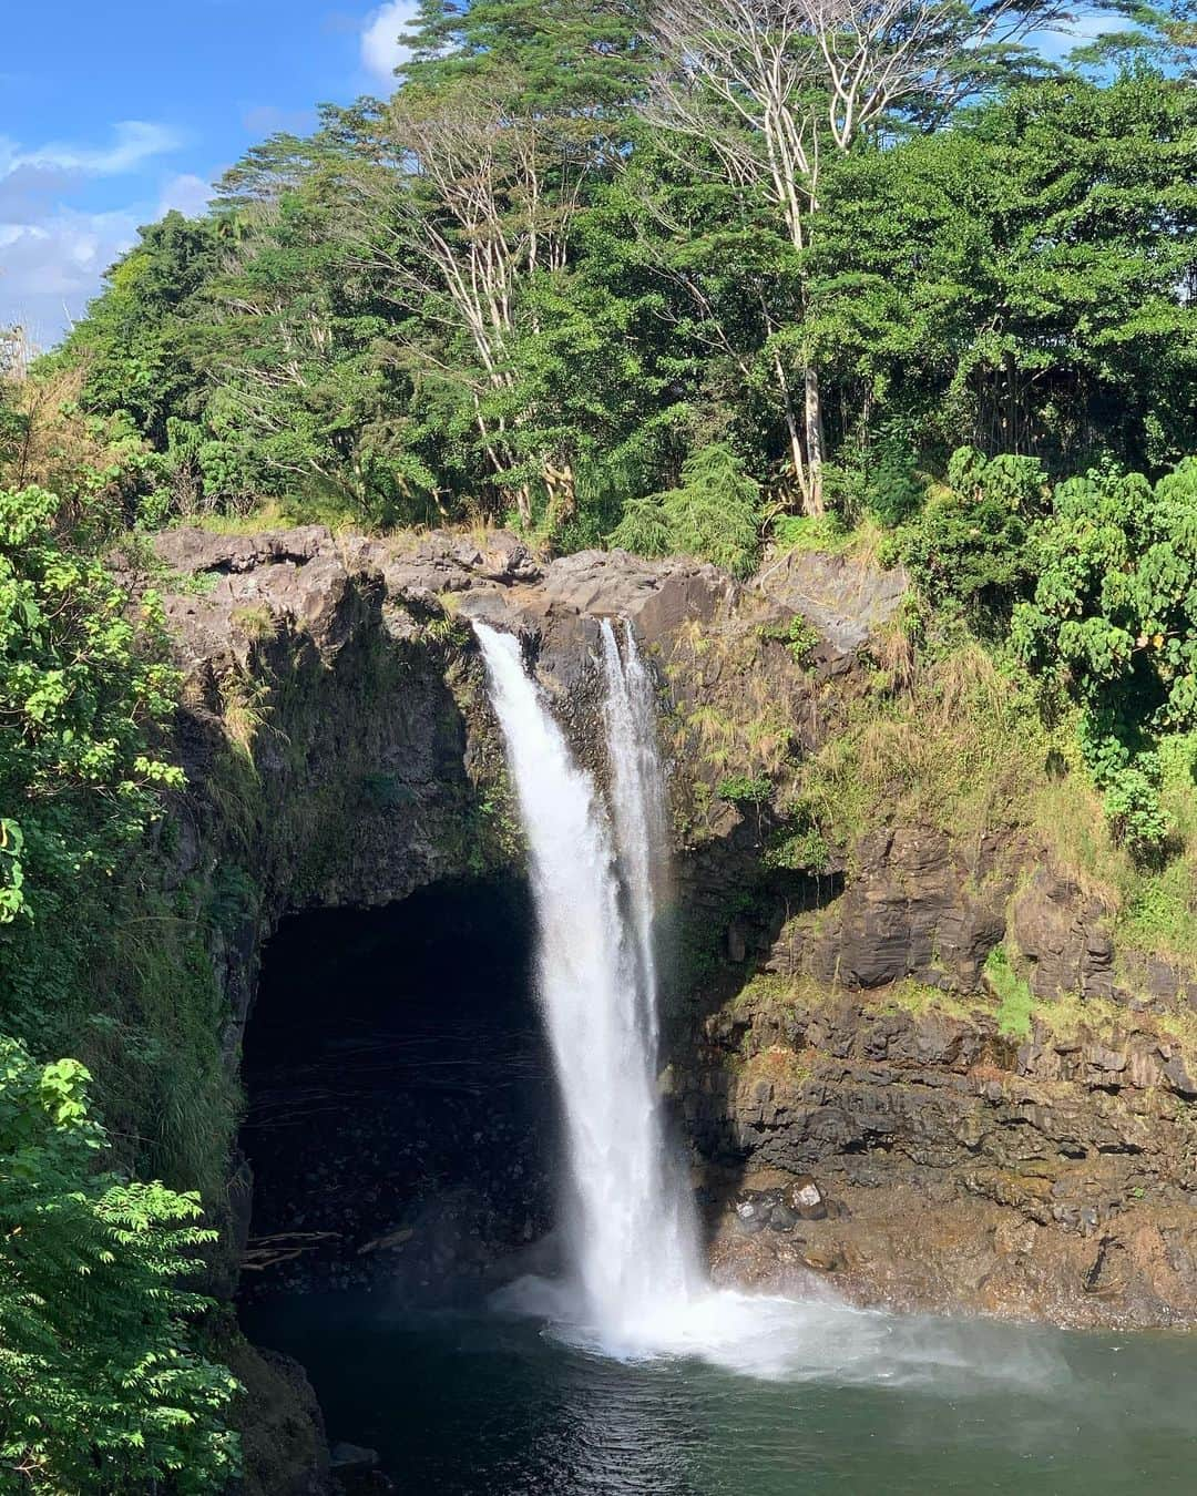
[[[136,229],[314,105],[385,93],[416,0],[19,0],[0,55],[0,326],[42,347]],[[1082,22],[1082,30],[1085,28]],[[1043,37],[1061,55],[1064,37]]]

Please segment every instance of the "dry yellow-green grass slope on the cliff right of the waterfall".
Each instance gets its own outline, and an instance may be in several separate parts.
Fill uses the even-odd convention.
[[[880,670],[875,688],[847,703],[821,751],[798,767],[790,799],[845,848],[902,823],[938,827],[965,851],[986,832],[1023,833],[1107,904],[1124,947],[1197,957],[1194,735],[1164,745],[1172,833],[1166,854],[1143,863],[1110,833],[1073,715],[1044,718],[1025,675],[965,640],[916,661],[905,690]]]

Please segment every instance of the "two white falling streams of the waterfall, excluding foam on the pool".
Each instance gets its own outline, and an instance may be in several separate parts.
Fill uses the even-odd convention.
[[[606,805],[573,758],[518,642],[474,625],[528,839],[539,996],[566,1123],[579,1319],[649,1348],[702,1281],[693,1204],[657,1092],[654,898],[666,814],[652,682],[630,628],[603,624]]]

